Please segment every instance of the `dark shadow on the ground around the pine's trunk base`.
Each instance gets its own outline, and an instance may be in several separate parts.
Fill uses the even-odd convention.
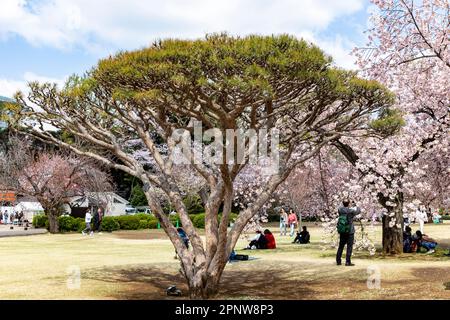
[[[239,264],[248,262],[240,262]],[[250,267],[240,270],[225,270],[217,299],[311,299],[314,290],[307,281],[292,279],[288,270],[277,270],[273,266]],[[173,264],[133,265],[123,268],[90,269],[83,279],[117,283],[117,290],[110,294],[113,299],[187,299],[188,288],[182,274]],[[181,297],[168,297],[166,289],[176,285]]]

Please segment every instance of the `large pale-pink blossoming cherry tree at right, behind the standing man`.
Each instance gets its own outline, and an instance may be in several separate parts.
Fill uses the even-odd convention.
[[[340,139],[334,144],[383,206],[384,252],[401,253],[403,215],[417,203],[413,199],[405,203],[405,193],[414,194],[416,187],[408,181],[421,175],[414,163],[431,148],[435,154],[448,154],[449,2],[373,3],[378,11],[372,17],[369,43],[356,49],[355,55],[365,76],[396,93],[396,108],[405,124],[382,140]]]

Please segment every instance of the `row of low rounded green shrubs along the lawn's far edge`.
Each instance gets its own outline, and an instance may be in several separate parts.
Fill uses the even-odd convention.
[[[191,214],[189,215],[194,227],[199,229],[205,228],[205,214]],[[221,215],[219,215],[220,221]],[[230,215],[230,222],[237,218],[236,213]],[[179,221],[178,215],[171,215],[169,217],[170,221],[176,225],[177,221],[179,226],[181,222]],[[58,218],[60,232],[70,232],[77,231],[81,232],[85,228],[85,223],[83,218],[74,218],[72,216],[61,216]],[[48,218],[46,215],[35,215],[33,217],[33,226],[35,228],[47,228],[48,229]],[[158,220],[156,217],[148,214],[136,214],[130,216],[117,216],[117,217],[105,217],[102,220],[102,230],[111,232],[116,230],[139,230],[139,229],[156,229],[158,227]]]

